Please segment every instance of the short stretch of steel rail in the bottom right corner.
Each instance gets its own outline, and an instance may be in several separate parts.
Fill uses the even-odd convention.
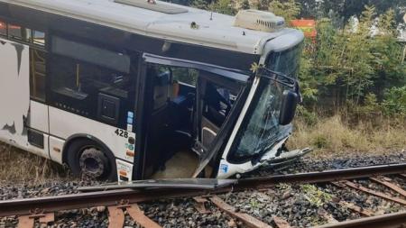
[[[318,226],[317,228],[401,228],[405,226],[406,212],[399,212],[355,219],[341,223],[331,223]]]

